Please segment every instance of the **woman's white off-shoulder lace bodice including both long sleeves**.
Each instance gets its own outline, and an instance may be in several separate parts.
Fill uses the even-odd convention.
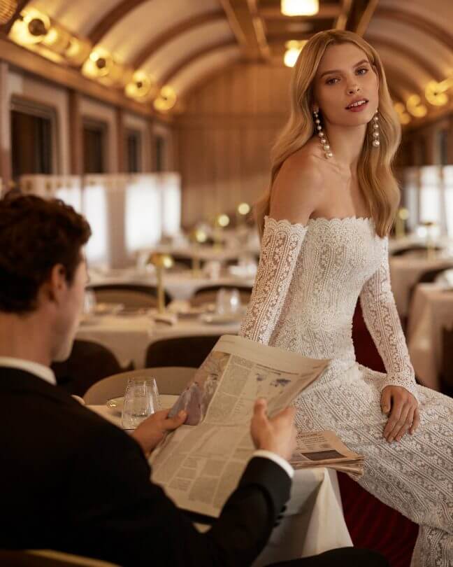
[[[391,293],[387,239],[368,218],[310,219],[306,226],[266,218],[257,280],[240,334],[336,370],[355,363],[352,317],[361,297],[387,384],[415,395],[415,380]]]

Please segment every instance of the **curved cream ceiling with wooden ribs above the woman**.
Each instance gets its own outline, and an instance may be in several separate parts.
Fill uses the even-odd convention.
[[[27,2],[22,2],[24,4]],[[452,0],[329,0],[287,18],[280,0],[32,0],[78,36],[182,95],[202,76],[243,59],[282,64],[285,41],[337,27],[375,46],[398,98],[423,96],[453,73]]]

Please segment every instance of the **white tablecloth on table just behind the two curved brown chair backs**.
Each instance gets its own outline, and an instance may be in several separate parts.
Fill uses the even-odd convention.
[[[96,271],[89,272],[90,282],[96,283],[138,283],[141,286],[156,286],[157,280],[154,274],[149,272],[139,272],[134,269],[115,269],[99,274]],[[192,272],[180,272],[178,274],[166,272],[164,274],[164,288],[171,295],[172,299],[187,300],[199,288],[206,286],[247,286],[252,288],[254,277],[234,277],[227,276],[218,279],[210,279],[206,276],[194,277]]]

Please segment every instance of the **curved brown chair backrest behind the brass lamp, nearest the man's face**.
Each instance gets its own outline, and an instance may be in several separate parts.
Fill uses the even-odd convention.
[[[124,307],[156,307],[157,288],[139,283],[94,283],[89,287],[101,303],[122,303]],[[165,304],[171,301],[165,292]]]

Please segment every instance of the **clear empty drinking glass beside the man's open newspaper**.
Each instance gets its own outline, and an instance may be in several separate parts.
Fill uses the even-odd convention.
[[[121,414],[123,429],[135,429],[144,419],[161,409],[154,378],[129,378]]]

